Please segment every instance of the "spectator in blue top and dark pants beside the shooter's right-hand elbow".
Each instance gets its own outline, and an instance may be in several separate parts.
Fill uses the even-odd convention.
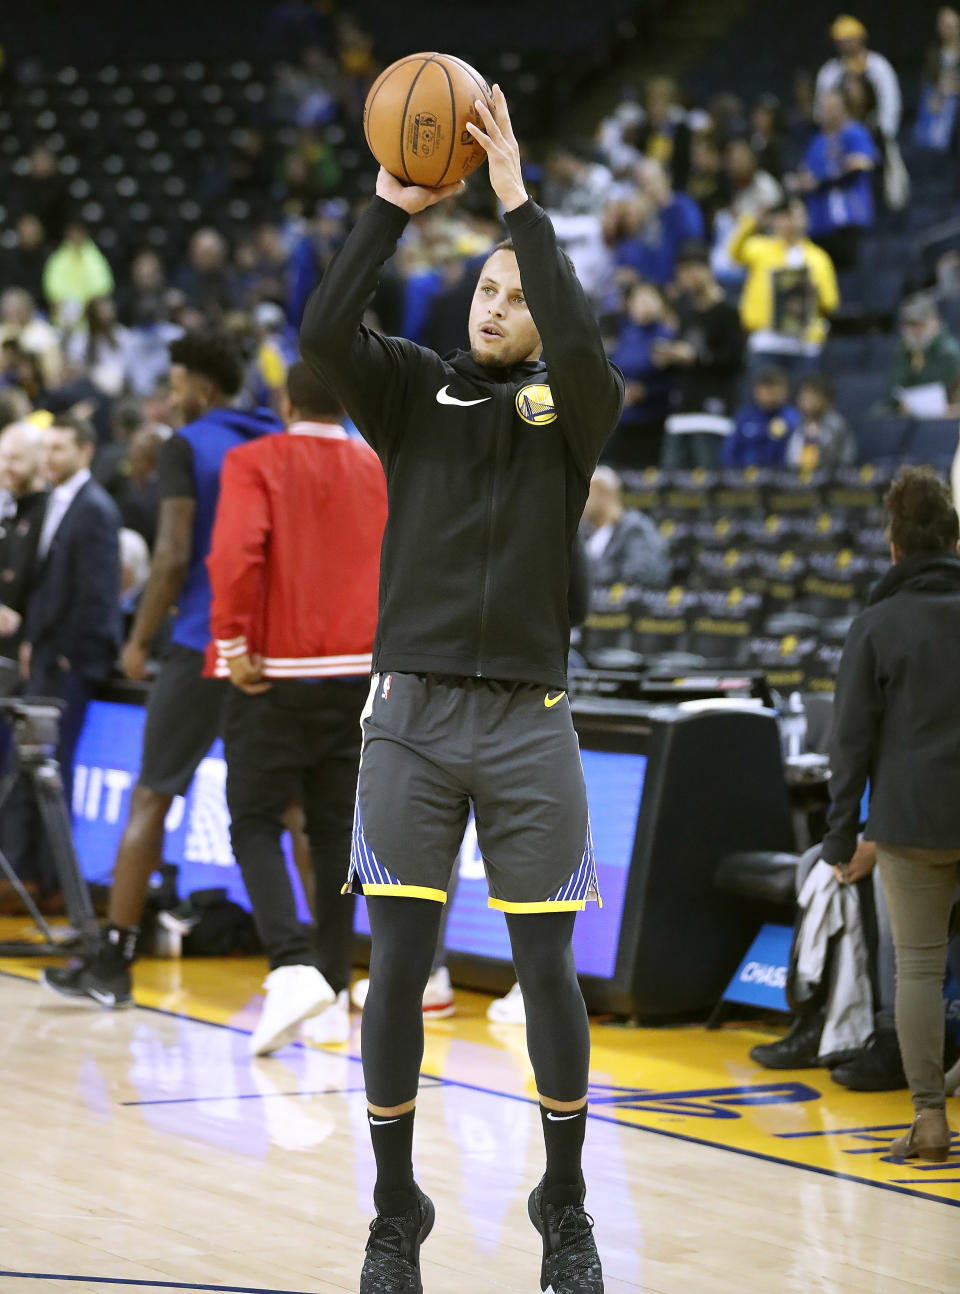
[[[603,461],[616,467],[655,467],[660,462],[664,423],[670,411],[673,373],[656,358],[657,345],[673,340],[666,303],[652,283],[637,283],[627,296],[611,358],[624,374],[624,411],[607,441]]]

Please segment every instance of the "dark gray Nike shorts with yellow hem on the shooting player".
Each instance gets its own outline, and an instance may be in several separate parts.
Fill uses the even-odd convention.
[[[383,673],[361,726],[345,890],[446,902],[472,804],[490,907],[568,912],[599,902],[565,692]]]

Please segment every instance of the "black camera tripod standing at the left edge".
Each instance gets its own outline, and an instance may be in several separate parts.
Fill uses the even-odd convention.
[[[63,780],[56,757],[62,708],[58,700],[0,696],[0,716],[10,725],[13,748],[17,753],[14,767],[0,782],[0,811],[17,778],[26,778],[40,818],[43,836],[53,855],[71,933],[65,938],[54,936],[43,912],[14,872],[10,861],[0,851],[0,873],[9,880],[44,937],[44,942],[28,939],[0,942],[0,956],[62,954],[78,943],[82,946],[92,943],[97,934],[97,917],[74,849],[70,810],[63,798]]]

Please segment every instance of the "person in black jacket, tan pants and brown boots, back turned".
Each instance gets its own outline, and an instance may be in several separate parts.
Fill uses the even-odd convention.
[[[876,841],[897,951],[897,1035],[916,1118],[893,1154],[943,1162],[943,965],[960,877],[960,524],[943,481],[904,467],[885,507],[893,567],[853,624],[837,677],[824,862]]]

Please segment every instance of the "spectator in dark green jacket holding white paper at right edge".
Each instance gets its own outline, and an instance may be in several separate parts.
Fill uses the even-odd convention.
[[[948,418],[960,413],[960,343],[941,320],[937,298],[920,292],[900,309],[888,402],[915,418]]]

